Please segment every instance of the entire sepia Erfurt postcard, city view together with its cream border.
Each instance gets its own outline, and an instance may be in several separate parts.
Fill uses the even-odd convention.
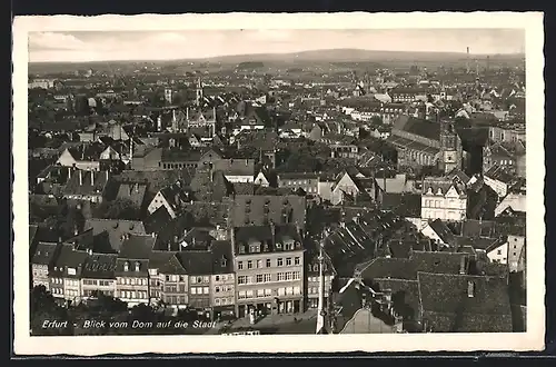
[[[21,19],[22,340],[543,347],[542,13],[188,16]]]

